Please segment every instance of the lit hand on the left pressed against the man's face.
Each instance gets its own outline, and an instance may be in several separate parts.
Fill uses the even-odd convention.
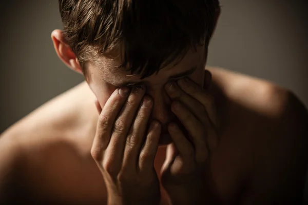
[[[158,204],[153,163],[161,126],[147,123],[152,99],[144,87],[116,89],[101,111],[91,155],[106,182],[108,204]]]

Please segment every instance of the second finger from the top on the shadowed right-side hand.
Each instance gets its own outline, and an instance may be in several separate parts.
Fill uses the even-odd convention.
[[[205,107],[197,99],[186,94],[175,82],[167,83],[165,89],[172,100],[181,101],[203,124],[208,121]]]

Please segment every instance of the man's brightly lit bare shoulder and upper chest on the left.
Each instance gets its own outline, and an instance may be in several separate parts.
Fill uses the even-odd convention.
[[[0,195],[8,198],[9,186],[15,196],[11,198],[16,194],[22,198],[20,193],[26,191],[31,193],[24,197],[37,197],[25,200],[58,200],[60,195],[62,200],[75,201],[86,195],[90,200],[91,193],[96,193],[95,200],[104,197],[92,190],[104,190],[89,152],[98,117],[93,100],[92,92],[82,83],[0,135],[0,181],[7,182],[0,183]],[[17,192],[19,185],[22,191]]]

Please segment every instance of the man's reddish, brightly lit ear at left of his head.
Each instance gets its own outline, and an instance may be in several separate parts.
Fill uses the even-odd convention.
[[[63,63],[73,71],[83,74],[80,63],[74,52],[72,52],[71,48],[66,43],[63,32],[58,29],[52,31],[51,39],[53,42],[54,50],[57,56],[59,56],[59,58],[63,61]]]

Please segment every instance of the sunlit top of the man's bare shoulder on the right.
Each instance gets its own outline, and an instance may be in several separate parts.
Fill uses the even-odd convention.
[[[260,78],[248,76],[223,68],[207,68],[213,82],[229,100],[258,111],[260,114],[275,116],[282,112],[286,104],[295,96],[290,90]]]

